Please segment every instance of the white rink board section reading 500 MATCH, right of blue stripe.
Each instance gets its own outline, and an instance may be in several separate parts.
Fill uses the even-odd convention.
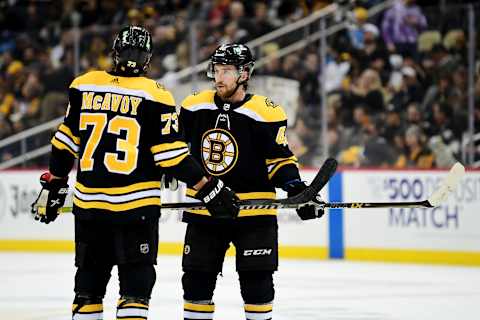
[[[447,171],[358,170],[342,173],[346,202],[421,201]],[[448,201],[432,209],[343,210],[349,260],[480,266],[480,172],[467,171]]]

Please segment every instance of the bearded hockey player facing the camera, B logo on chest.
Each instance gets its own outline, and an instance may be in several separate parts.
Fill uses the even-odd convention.
[[[247,46],[218,47],[207,70],[216,90],[188,96],[180,126],[192,155],[240,199],[274,199],[275,188],[293,196],[306,185],[288,148],[287,117],[269,98],[247,93],[253,68]],[[198,192],[188,188],[187,196],[198,197]],[[309,205],[297,213],[307,220],[321,217],[323,210]],[[271,319],[272,274],[278,265],[276,210],[240,210],[238,218],[229,221],[192,210],[183,220],[188,223],[182,262],[184,319],[213,319],[213,292],[230,243],[236,248],[246,319]]]

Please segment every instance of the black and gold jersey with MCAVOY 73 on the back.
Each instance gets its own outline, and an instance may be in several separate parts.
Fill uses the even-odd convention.
[[[66,176],[79,159],[73,212],[88,219],[158,216],[161,169],[189,157],[171,93],[145,77],[104,71],[72,82],[52,145],[54,175]],[[199,181],[203,172],[192,175]]]

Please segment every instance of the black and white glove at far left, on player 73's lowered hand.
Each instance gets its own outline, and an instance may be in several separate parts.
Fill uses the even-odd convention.
[[[32,214],[35,220],[43,223],[55,221],[58,216],[58,210],[65,204],[65,198],[68,195],[68,177],[53,178],[50,172],[45,172],[40,176],[42,190],[32,203]],[[45,212],[39,212],[39,207],[45,207]]]

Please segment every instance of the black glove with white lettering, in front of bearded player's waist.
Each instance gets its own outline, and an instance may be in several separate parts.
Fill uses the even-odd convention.
[[[209,177],[208,182],[198,190],[197,197],[205,203],[212,217],[234,219],[238,216],[240,199],[218,178]]]

